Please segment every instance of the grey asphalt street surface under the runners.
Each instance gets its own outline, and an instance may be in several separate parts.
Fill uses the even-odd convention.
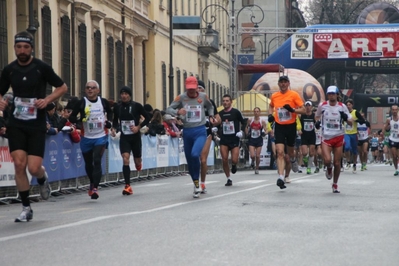
[[[0,206],[0,265],[399,265],[399,177],[371,164],[341,173],[340,194],[324,172],[275,170],[208,175],[192,197],[189,176],[133,182],[32,203]],[[314,170],[314,168],[313,168]]]

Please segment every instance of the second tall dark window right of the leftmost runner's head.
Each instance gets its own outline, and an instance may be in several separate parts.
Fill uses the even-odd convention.
[[[68,16],[61,18],[61,77],[68,87],[64,97],[69,98],[73,91],[71,83],[71,20]]]

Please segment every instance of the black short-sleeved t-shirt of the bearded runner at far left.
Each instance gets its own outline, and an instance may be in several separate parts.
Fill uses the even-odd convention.
[[[61,87],[64,81],[54,72],[53,68],[43,61],[33,58],[29,65],[21,66],[17,60],[4,67],[0,77],[0,94],[4,95],[12,88],[14,103],[11,106],[8,125],[29,129],[46,130],[46,110],[37,109],[35,119],[21,120],[14,117],[15,99],[46,97],[46,86]]]

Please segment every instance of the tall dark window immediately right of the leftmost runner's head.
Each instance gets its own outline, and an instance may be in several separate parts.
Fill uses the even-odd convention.
[[[1,11],[0,11],[1,12]],[[42,50],[43,50],[43,61],[49,64],[50,66],[53,64],[52,57],[52,41],[51,41],[51,10],[48,6],[44,6],[42,8]],[[46,95],[49,95],[53,92],[53,88],[50,84],[46,85]]]

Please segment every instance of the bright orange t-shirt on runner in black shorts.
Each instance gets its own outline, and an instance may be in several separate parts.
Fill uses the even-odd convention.
[[[303,101],[296,91],[275,92],[270,100],[270,107],[273,108],[274,118],[278,124],[288,125],[295,123],[297,114],[289,112],[283,106],[289,104],[294,109],[303,106]]]

